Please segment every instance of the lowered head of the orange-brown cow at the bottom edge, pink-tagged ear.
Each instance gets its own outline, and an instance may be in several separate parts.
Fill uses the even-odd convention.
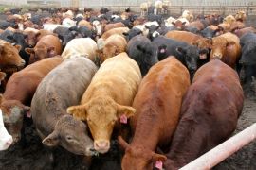
[[[125,150],[121,161],[122,170],[146,170],[153,169],[157,161],[164,162],[167,158],[164,155],[156,154],[142,145],[127,144],[119,136],[119,144]]]

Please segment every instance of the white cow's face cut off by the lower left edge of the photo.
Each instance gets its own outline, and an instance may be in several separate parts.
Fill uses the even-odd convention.
[[[4,126],[2,110],[0,110],[0,151],[7,150],[12,144],[12,141],[12,136],[9,135],[9,132]]]

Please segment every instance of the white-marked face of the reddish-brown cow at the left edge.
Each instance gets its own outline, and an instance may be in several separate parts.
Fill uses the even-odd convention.
[[[17,143],[21,139],[24,115],[30,117],[30,108],[18,100],[6,100],[2,94],[0,95],[0,103],[5,126],[13,138],[13,143]]]

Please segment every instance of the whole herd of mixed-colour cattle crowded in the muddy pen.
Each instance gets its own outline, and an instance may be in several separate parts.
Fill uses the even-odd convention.
[[[146,5],[140,15],[5,10],[1,152],[26,143],[24,129],[34,126],[52,168],[56,146],[82,155],[86,169],[114,141],[117,169],[174,170],[230,137],[242,85],[249,89],[256,76],[256,29],[246,13],[184,10],[174,18]]]

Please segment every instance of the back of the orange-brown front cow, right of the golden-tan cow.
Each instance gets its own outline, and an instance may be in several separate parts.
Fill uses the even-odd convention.
[[[133,103],[137,110],[132,117],[133,130],[147,122],[148,125],[161,128],[160,144],[170,142],[179,118],[182,97],[189,85],[187,68],[174,57],[155,64],[139,85]],[[155,115],[155,119],[152,119],[154,122],[147,118],[151,114]]]

